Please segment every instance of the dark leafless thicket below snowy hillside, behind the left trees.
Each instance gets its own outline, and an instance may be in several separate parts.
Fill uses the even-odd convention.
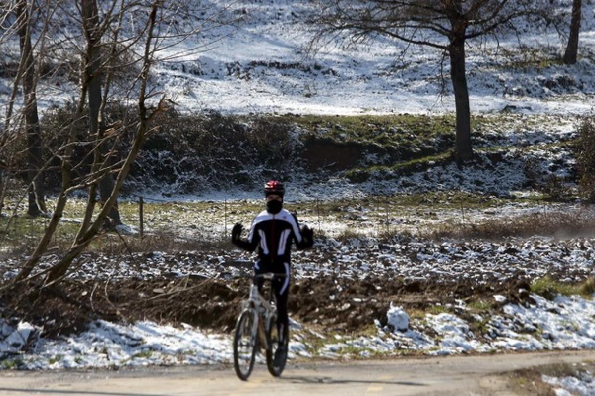
[[[43,113],[43,141],[45,159],[64,142],[73,119],[76,105],[51,107]],[[105,123],[121,121],[115,145],[115,160],[126,156],[135,132],[131,120],[137,118],[134,107],[109,102]],[[234,116],[217,112],[184,115],[175,109],[160,113],[152,122],[156,129],[143,143],[142,151],[131,169],[125,192],[168,186],[176,193],[202,191],[208,183],[234,183],[252,186],[255,180],[284,179],[293,173],[297,139],[293,137],[292,123],[265,116]],[[86,112],[76,123],[79,140],[88,138],[89,122]],[[108,145],[114,140],[110,139]],[[26,153],[24,137],[15,142],[15,151]],[[78,144],[74,149],[74,163],[86,157],[89,144]],[[17,158],[18,167],[26,169],[26,156]],[[87,161],[89,162],[89,161]],[[51,161],[46,172],[46,184],[58,186],[61,182],[60,159]],[[77,167],[74,176],[87,172],[89,164]],[[20,179],[24,179],[24,175]]]

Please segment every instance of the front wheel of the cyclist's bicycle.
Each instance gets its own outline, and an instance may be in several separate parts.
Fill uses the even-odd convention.
[[[251,310],[242,312],[237,319],[236,331],[233,336],[233,368],[237,376],[246,381],[254,368],[256,353],[256,332],[254,323],[256,313]]]

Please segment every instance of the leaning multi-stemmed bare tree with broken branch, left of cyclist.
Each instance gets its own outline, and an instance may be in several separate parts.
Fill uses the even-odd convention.
[[[83,4],[84,3],[84,4]],[[110,8],[107,12],[104,10],[104,19],[99,22],[95,19],[97,9],[93,10],[94,0],[82,0],[82,5],[86,5],[89,8],[83,11],[82,24],[87,24],[83,27],[83,31],[87,33],[96,34],[96,28],[105,29],[106,31],[112,32],[112,42],[102,42],[102,45],[107,46],[109,52],[108,56],[99,57],[99,61],[95,62],[93,54],[94,51],[100,47],[98,42],[93,42],[97,37],[92,37],[91,45],[86,45],[85,61],[81,65],[80,78],[80,94],[77,100],[77,107],[74,114],[71,117],[70,123],[64,128],[64,137],[61,141],[64,142],[60,148],[55,150],[55,157],[61,159],[60,170],[62,176],[62,184],[60,188],[60,194],[58,195],[57,203],[55,206],[54,214],[51,220],[46,226],[45,233],[40,238],[35,251],[26,259],[23,263],[20,272],[12,278],[10,284],[4,287],[4,290],[10,290],[18,284],[22,284],[29,280],[38,280],[37,289],[44,289],[49,286],[56,286],[68,271],[71,270],[71,265],[74,259],[80,255],[84,249],[87,248],[98,235],[100,235],[102,225],[109,216],[109,211],[114,207],[117,202],[118,195],[120,194],[121,188],[124,185],[124,181],[129,174],[131,167],[136,160],[142,147],[142,143],[149,133],[155,128],[154,118],[156,115],[161,113],[166,105],[167,100],[165,96],[159,93],[154,87],[151,87],[149,82],[151,77],[151,68],[157,62],[161,62],[167,59],[173,59],[180,55],[189,55],[193,52],[201,51],[205,48],[204,45],[192,47],[184,47],[182,52],[176,52],[172,50],[178,43],[183,42],[188,37],[192,37],[200,31],[206,31],[211,27],[220,26],[218,17],[220,14],[214,12],[210,18],[203,18],[202,21],[192,20],[190,18],[182,18],[184,22],[180,23],[180,13],[184,12],[184,2],[178,1],[164,1],[164,0],[152,0],[150,3],[146,1],[124,1],[118,2],[121,8],[118,11],[114,11]],[[99,3],[95,3],[98,5]],[[112,11],[113,14],[112,14]],[[117,32],[120,31],[123,20],[132,20],[134,26],[129,26],[126,30],[124,37],[118,38]],[[99,22],[99,23],[98,23]],[[108,28],[108,26],[110,26]],[[124,31],[124,30],[121,30]],[[89,44],[87,42],[87,44]],[[160,56],[164,49],[167,55]],[[109,126],[101,126],[103,120],[102,113],[105,109],[106,97],[109,88],[109,73],[106,74],[107,78],[104,81],[103,95],[93,96],[90,94],[92,83],[96,84],[94,78],[96,77],[95,69],[111,69],[114,67],[113,61],[122,53],[131,51],[134,52],[132,61],[127,64],[126,67],[129,69],[135,69],[133,66],[138,67],[138,74],[133,79],[127,80],[127,96],[118,97],[118,99],[132,100],[133,96],[136,96],[136,120],[132,123],[125,124],[124,122],[117,122]],[[122,67],[121,65],[119,66]],[[101,81],[101,80],[99,80]],[[101,89],[101,84],[98,84]],[[97,88],[94,88],[97,89]],[[100,91],[101,94],[101,91]],[[158,99],[161,97],[161,99]],[[89,100],[93,100],[93,104],[89,104],[89,107],[93,106],[93,111],[98,111],[98,119],[96,126],[92,126],[94,132],[92,135],[87,135],[88,140],[80,141],[77,135],[77,124],[80,120],[85,117],[85,103]],[[101,100],[98,100],[100,98]],[[99,103],[99,106],[97,104]],[[88,114],[87,114],[88,116]],[[111,142],[111,148],[108,147],[107,153],[102,154],[101,146],[108,141],[109,138],[120,138],[122,136],[129,136],[129,131],[134,129],[132,138],[129,143],[129,148],[120,161],[110,163],[109,157],[112,156],[114,142]],[[73,175],[73,169],[86,169],[82,166],[84,160],[80,163],[74,163],[73,154],[75,146],[90,147],[87,151],[87,156],[93,157],[93,163],[89,170],[82,172],[82,175]],[[96,189],[98,188],[99,180],[108,174],[117,175],[111,191],[109,191],[108,197],[105,199],[104,205],[96,213],[95,208],[95,196]],[[48,251],[49,241],[52,235],[57,230],[58,224],[64,208],[68,200],[70,192],[76,189],[89,188],[89,200],[87,201],[87,207],[85,209],[84,218],[80,224],[79,231],[76,237],[74,237],[73,243],[63,254],[60,259],[51,268],[43,271],[35,271],[37,264],[43,255]]]

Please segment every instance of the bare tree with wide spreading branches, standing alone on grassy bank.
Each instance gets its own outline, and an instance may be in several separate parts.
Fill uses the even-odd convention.
[[[347,37],[350,44],[385,36],[444,52],[450,59],[450,79],[455,94],[456,144],[459,163],[471,159],[469,90],[465,71],[465,44],[469,39],[495,34],[521,17],[546,17],[545,0],[314,0],[318,32],[314,47],[325,38]],[[343,35],[343,36],[342,36]]]

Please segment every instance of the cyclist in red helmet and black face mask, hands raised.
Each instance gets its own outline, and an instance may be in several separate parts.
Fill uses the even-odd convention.
[[[243,226],[236,223],[231,229],[231,242],[246,251],[253,252],[258,246],[258,259],[254,263],[256,274],[276,273],[286,277],[275,278],[272,286],[277,297],[277,331],[279,352],[285,353],[289,337],[287,296],[289,294],[289,264],[292,242],[298,249],[307,249],[314,243],[313,232],[308,226],[299,228],[295,214],[283,209],[285,188],[283,183],[270,180],[264,185],[267,209],[252,221],[248,240],[242,239]],[[262,281],[258,287],[262,287]],[[277,355],[278,356],[278,355]],[[275,356],[275,357],[277,357]]]

